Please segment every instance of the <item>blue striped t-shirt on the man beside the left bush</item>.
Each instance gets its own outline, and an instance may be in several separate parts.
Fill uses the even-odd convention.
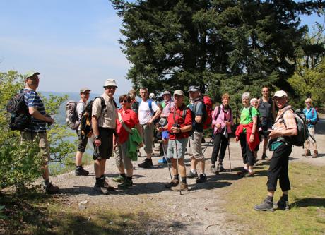
[[[38,112],[40,112],[40,114],[45,115],[46,113],[44,104],[37,92],[26,88],[23,90],[23,92],[25,92],[24,100],[27,107],[34,107],[35,109],[37,109]],[[46,124],[47,123],[45,121],[35,119],[32,116],[30,125],[28,126],[28,128],[25,128],[25,131],[43,132],[46,131]]]

